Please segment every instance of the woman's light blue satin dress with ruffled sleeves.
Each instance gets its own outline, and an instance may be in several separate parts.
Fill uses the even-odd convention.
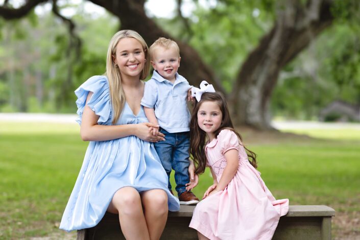
[[[93,94],[87,104],[100,116],[98,124],[112,125],[109,84],[105,76],[91,77],[75,91],[78,97],[77,122],[81,124],[89,91]],[[142,106],[135,116],[125,103],[116,125],[144,122],[148,119]],[[180,209],[179,200],[167,189],[167,175],[152,143],[133,135],[108,141],[90,141],[60,229],[71,231],[97,225],[115,192],[125,186],[132,186],[139,192],[163,189],[169,198],[169,210]]]

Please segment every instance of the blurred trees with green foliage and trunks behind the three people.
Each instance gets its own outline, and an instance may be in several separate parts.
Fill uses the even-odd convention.
[[[175,39],[179,73],[221,90],[237,124],[268,129],[272,117],[317,119],[334,100],[360,103],[356,0],[177,0],[171,18],[152,16],[147,1],[0,3],[2,112],[74,113],[73,91],[104,73],[119,29],[149,45]]]

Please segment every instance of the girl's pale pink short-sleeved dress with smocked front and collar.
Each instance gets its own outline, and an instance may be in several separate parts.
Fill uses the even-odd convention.
[[[224,153],[238,150],[239,166],[228,186],[198,203],[189,227],[210,239],[271,239],[289,199],[275,200],[248,160],[236,134],[222,130],[205,147],[207,164],[218,182],[226,166]]]

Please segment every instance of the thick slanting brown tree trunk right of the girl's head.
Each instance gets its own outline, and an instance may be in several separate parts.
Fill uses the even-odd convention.
[[[299,0],[281,3],[273,29],[248,55],[231,92],[233,113],[243,124],[270,126],[269,101],[281,68],[333,20],[332,0],[308,0],[306,6]]]

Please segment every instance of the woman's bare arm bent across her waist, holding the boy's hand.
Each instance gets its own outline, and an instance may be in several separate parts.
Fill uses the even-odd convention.
[[[121,137],[135,135],[146,141],[157,142],[164,140],[163,134],[158,133],[154,136],[150,131],[150,127],[156,127],[151,123],[141,124],[124,124],[124,125],[98,125],[99,116],[96,115],[87,102],[90,100],[92,92],[89,92],[84,112],[82,114],[82,123],[80,127],[80,135],[84,141],[106,141]]]

